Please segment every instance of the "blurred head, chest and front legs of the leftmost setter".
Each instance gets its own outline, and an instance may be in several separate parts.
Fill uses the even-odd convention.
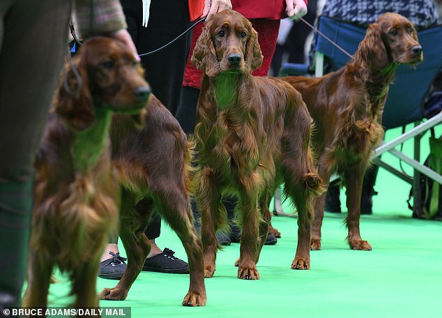
[[[112,112],[140,112],[149,93],[139,63],[116,40],[93,38],[66,63],[35,160],[24,305],[47,305],[58,266],[70,275],[75,307],[98,306],[100,255],[117,231],[120,197],[111,162]]]

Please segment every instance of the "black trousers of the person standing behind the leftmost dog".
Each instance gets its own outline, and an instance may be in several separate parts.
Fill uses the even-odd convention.
[[[148,26],[142,26],[142,0],[121,0],[128,31],[140,55],[162,47],[190,27],[188,1],[152,0]],[[192,32],[155,54],[142,56],[146,80],[155,96],[175,116],[183,86]],[[161,219],[153,218],[148,239],[160,236]]]

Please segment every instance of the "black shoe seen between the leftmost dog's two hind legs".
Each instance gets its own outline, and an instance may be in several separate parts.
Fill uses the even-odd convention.
[[[178,257],[174,257],[175,252],[165,248],[162,253],[146,258],[143,271],[155,271],[158,273],[188,274],[189,264]]]

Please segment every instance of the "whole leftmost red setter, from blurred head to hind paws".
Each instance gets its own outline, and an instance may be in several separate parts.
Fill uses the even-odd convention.
[[[26,305],[46,304],[54,265],[70,273],[76,307],[98,305],[100,255],[109,234],[118,231],[118,215],[128,268],[100,297],[125,299],[151,248],[144,229],[153,213],[165,217],[188,253],[190,289],[183,305],[205,305],[201,241],[190,211],[190,142],[158,99],[148,98],[143,70],[123,45],[89,40],[74,63],[82,84],[68,69],[70,93],[61,83],[36,160]],[[110,116],[111,110],[119,114]]]

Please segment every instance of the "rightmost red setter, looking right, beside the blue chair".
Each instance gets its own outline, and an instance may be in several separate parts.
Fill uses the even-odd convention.
[[[370,156],[381,142],[388,85],[399,64],[422,61],[416,29],[402,15],[385,13],[369,26],[354,59],[323,77],[285,77],[300,91],[317,130],[312,144],[318,172],[328,184],[336,172],[346,185],[346,226],[352,250],[372,250],[359,230],[360,197]],[[321,249],[326,194],[315,199],[312,250]]]

